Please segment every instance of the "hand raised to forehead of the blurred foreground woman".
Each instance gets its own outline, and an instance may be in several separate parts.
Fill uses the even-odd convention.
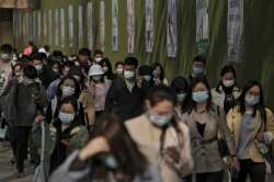
[[[89,141],[89,144],[80,151],[79,159],[84,161],[99,152],[109,152],[110,150],[107,140],[104,137],[96,137]]]

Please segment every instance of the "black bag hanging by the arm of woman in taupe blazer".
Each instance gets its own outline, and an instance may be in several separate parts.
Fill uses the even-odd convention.
[[[219,106],[217,106],[217,114],[218,114],[219,120],[221,120]],[[218,139],[218,148],[219,148],[220,157],[221,158],[228,157],[229,149],[227,146],[227,141],[225,139],[225,134],[220,127],[219,127],[218,133],[217,133],[217,139]]]

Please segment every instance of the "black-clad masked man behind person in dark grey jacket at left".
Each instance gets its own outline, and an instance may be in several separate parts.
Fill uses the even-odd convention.
[[[54,72],[48,65],[44,65],[43,53],[34,53],[31,59],[31,65],[35,67],[36,71],[38,72],[38,78],[46,89],[54,80],[59,78],[58,73]]]

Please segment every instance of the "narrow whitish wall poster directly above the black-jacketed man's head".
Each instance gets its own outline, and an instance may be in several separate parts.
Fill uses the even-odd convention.
[[[127,52],[134,53],[135,45],[135,5],[134,0],[127,0]]]

